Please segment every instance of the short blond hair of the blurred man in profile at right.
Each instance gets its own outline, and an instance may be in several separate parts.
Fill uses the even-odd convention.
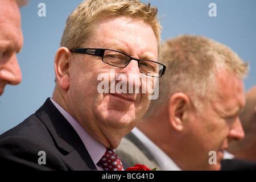
[[[159,60],[167,69],[159,79],[159,97],[151,101],[146,115],[155,113],[176,92],[187,94],[200,109],[216,93],[218,69],[240,78],[247,75],[247,63],[232,49],[204,36],[180,35],[166,40],[160,47]]]

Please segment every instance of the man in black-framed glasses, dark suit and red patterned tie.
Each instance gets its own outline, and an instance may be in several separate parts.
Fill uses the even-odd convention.
[[[160,29],[157,9],[150,4],[80,3],[69,15],[56,52],[53,96],[0,136],[1,167],[124,170],[114,149],[146,113],[152,94],[130,92],[130,86],[154,88],[152,77],[165,70],[158,63]],[[139,79],[130,80],[130,75]]]

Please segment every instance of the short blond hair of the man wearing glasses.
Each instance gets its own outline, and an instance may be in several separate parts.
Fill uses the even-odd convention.
[[[158,9],[137,0],[86,0],[69,15],[60,46],[79,48],[92,34],[97,20],[106,16],[131,16],[150,24],[160,47]]]

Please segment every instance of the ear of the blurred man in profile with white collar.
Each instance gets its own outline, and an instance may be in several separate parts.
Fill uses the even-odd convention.
[[[175,93],[171,96],[168,106],[169,121],[175,130],[181,131],[184,127],[184,114],[187,114],[190,100],[184,93]]]

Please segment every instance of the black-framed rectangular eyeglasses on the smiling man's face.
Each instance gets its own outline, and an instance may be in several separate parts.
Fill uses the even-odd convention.
[[[156,61],[135,59],[125,53],[112,49],[77,48],[71,52],[85,53],[86,55],[100,56],[102,61],[113,67],[125,68],[131,60],[138,61],[139,71],[147,76],[161,77],[166,71],[166,66]]]

